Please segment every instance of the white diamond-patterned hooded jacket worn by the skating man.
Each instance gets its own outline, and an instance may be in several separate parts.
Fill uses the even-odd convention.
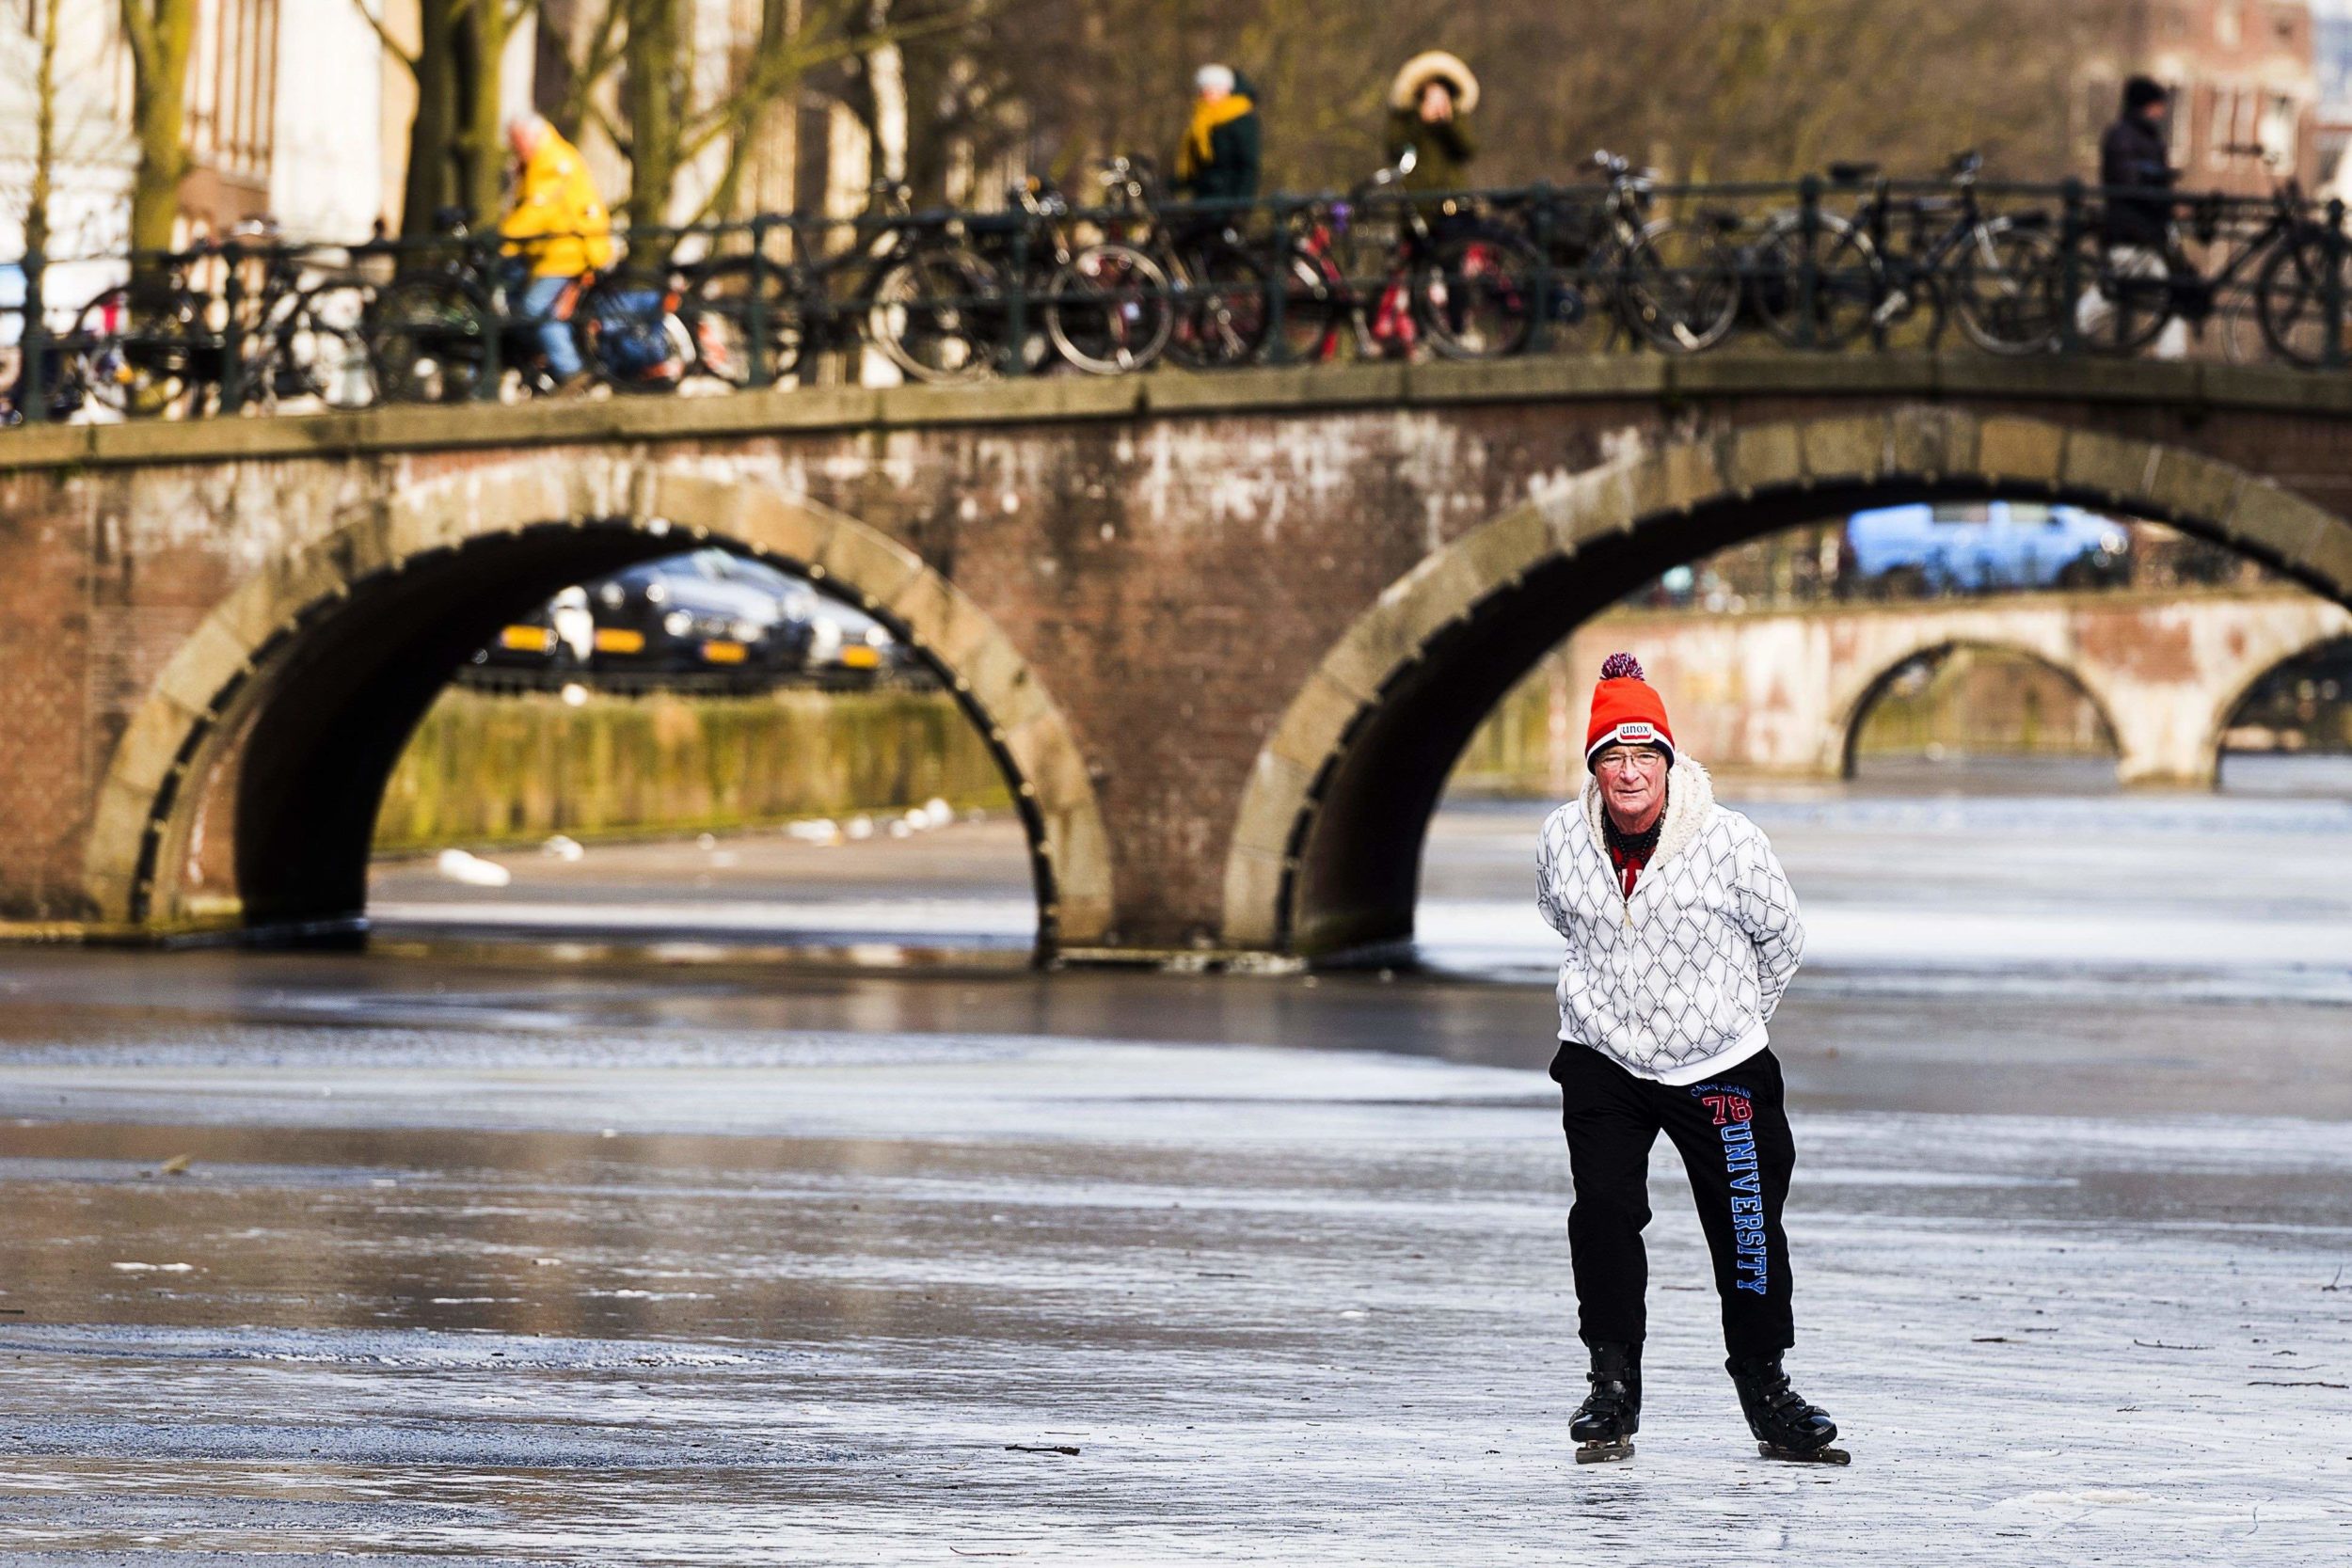
[[[1717,806],[1689,757],[1665,776],[1665,823],[1632,898],[1618,889],[1588,778],[1536,851],[1536,907],[1569,938],[1559,1039],[1661,1084],[1698,1084],[1762,1051],[1804,957],[1797,893],[1764,830]]]

